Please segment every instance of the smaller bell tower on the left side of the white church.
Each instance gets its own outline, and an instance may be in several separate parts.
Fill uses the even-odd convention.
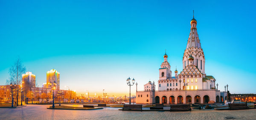
[[[161,68],[159,68],[159,80],[166,80],[172,76],[171,66],[167,61],[168,56],[163,55],[164,61],[161,64]]]

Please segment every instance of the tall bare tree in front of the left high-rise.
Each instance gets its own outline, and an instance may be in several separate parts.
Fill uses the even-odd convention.
[[[19,85],[22,84],[22,74],[26,72],[26,67],[24,67],[20,58],[14,62],[13,66],[9,69],[10,80],[13,84],[17,84],[17,106],[18,106],[18,93],[19,93]]]

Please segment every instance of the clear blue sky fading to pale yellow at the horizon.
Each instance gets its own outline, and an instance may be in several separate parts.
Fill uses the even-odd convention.
[[[168,54],[182,57],[195,11],[205,73],[218,89],[256,93],[256,2],[236,0],[0,0],[0,85],[17,58],[36,75],[60,73],[60,87],[79,94],[128,95],[128,77],[143,90],[157,82]],[[131,86],[135,95],[136,86]]]

